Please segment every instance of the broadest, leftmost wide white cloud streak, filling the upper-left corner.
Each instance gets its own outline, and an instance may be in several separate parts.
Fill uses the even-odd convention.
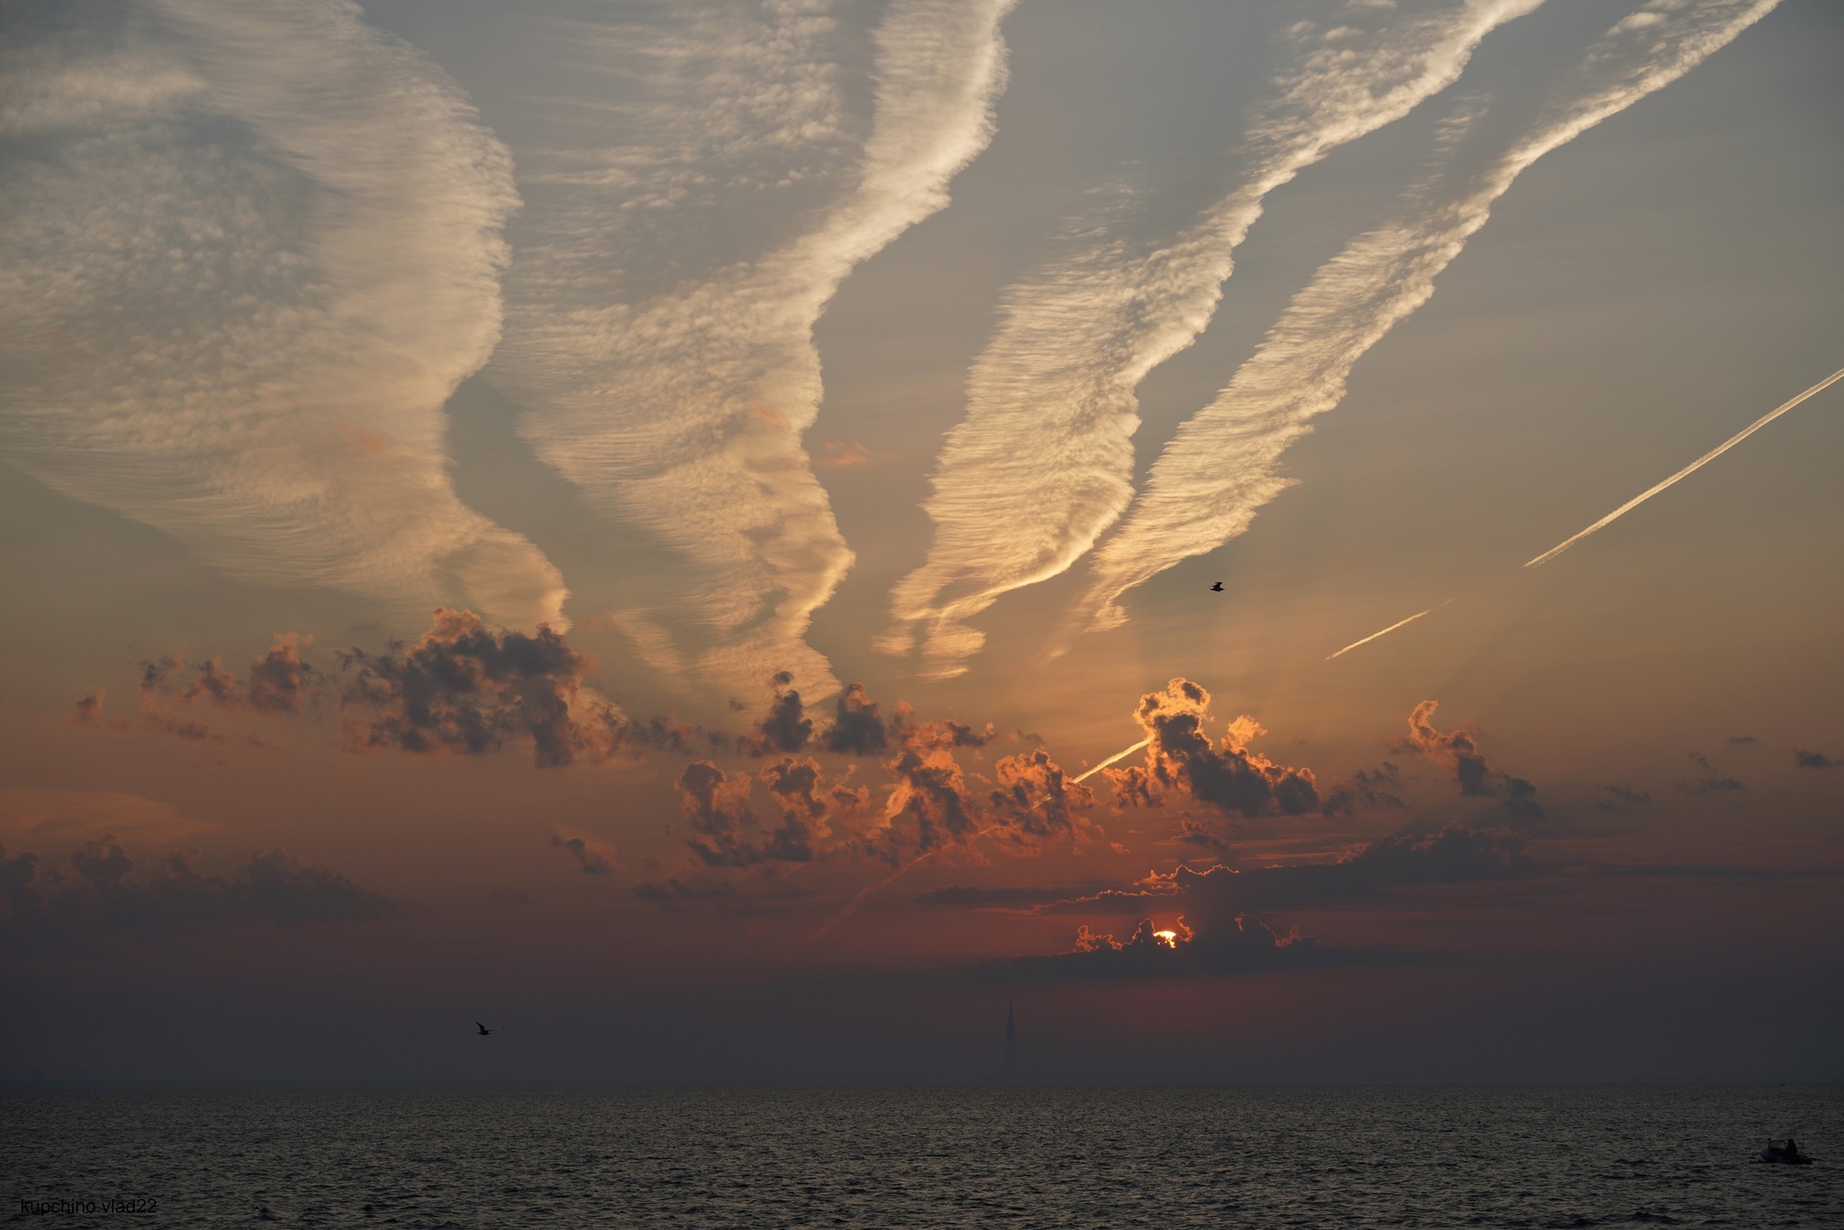
[[[9,30],[0,450],[229,574],[564,627],[455,496],[500,334],[505,148],[341,0],[46,6]]]

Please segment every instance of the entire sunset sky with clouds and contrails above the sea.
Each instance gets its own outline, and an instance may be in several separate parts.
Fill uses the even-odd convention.
[[[1837,6],[0,20],[0,1081],[1844,1079]]]

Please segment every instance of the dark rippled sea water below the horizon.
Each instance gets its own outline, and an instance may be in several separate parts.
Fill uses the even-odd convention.
[[[0,1177],[46,1226],[1844,1226],[1844,1088],[11,1092]]]

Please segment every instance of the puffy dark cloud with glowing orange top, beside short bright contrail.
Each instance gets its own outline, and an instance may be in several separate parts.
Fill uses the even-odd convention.
[[[1145,763],[1103,769],[1123,806],[1158,804],[1182,791],[1230,815],[1306,815],[1318,810],[1311,769],[1289,769],[1248,749],[1265,734],[1250,717],[1230,723],[1219,745],[1204,734],[1210,693],[1189,679],[1140,697],[1134,714],[1147,732]]]

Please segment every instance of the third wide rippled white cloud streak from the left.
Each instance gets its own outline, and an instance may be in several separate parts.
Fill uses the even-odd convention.
[[[1210,323],[1263,199],[1444,90],[1490,30],[1538,4],[1352,4],[1294,24],[1300,52],[1250,127],[1243,183],[1151,253],[1121,238],[1108,201],[1068,256],[1011,286],[937,465],[935,542],[894,588],[878,647],[909,653],[920,633],[924,673],[957,675],[985,640],[966,620],[1088,551],[1132,500],[1134,387]]]

